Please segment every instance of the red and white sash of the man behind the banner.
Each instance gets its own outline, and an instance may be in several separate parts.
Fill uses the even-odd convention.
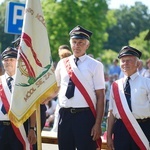
[[[0,80],[0,98],[3,102],[3,105],[5,107],[6,112],[8,113],[9,108],[10,108],[10,104],[9,104],[9,101],[8,101],[7,96],[5,94],[1,80]],[[11,122],[11,125],[12,125],[12,128],[13,128],[17,138],[19,139],[19,141],[23,145],[23,148],[24,148],[23,150],[32,150],[32,146],[28,142],[28,139],[26,137],[26,133],[25,133],[23,125],[20,128],[17,128],[12,122]]]

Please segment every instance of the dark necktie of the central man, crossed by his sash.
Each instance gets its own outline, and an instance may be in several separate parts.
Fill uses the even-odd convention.
[[[75,58],[75,60],[74,60],[76,65],[77,65],[78,60],[79,60],[79,58]],[[73,83],[73,81],[70,78],[65,96],[68,99],[72,98],[74,96],[74,90],[75,90],[75,84]]]

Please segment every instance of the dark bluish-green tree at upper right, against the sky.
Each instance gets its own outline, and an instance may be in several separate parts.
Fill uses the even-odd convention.
[[[147,6],[136,2],[135,6],[122,6],[119,10],[111,10],[117,20],[116,25],[107,29],[109,38],[104,49],[119,51],[128,41],[140,32],[150,28],[150,14]]]

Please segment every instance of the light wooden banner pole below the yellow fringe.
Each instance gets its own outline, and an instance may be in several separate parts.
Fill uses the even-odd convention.
[[[42,150],[40,105],[38,105],[36,110],[36,127],[37,127],[37,150]]]

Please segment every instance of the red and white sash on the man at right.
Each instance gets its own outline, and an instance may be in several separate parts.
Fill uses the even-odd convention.
[[[122,82],[123,80],[120,79],[113,83],[113,92],[118,112],[136,144],[142,150],[150,150],[148,139],[129,109]]]

